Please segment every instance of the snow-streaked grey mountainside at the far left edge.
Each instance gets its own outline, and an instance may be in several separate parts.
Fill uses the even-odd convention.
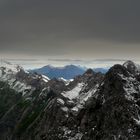
[[[3,61],[0,65],[0,81],[8,83],[10,88],[24,95],[43,87],[49,78],[45,75],[31,74],[19,65]]]

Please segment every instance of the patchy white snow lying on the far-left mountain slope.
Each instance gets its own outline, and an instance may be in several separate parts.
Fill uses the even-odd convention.
[[[10,62],[3,61],[0,65],[0,81],[7,82],[9,86],[17,92],[22,93],[24,96],[26,93],[30,94],[35,88],[27,84],[24,79],[22,81],[17,80],[16,75],[20,70],[23,70],[24,73],[29,74],[19,65],[11,64]],[[32,77],[33,79],[38,78],[38,75]],[[50,79],[47,76],[42,75],[42,80],[48,82]]]

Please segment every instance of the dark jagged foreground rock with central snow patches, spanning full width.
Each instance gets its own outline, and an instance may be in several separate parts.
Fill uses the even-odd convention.
[[[16,81],[34,89],[28,96],[1,79],[0,139],[140,139],[140,71],[132,61],[105,75],[89,69],[69,83],[41,78],[36,86],[24,74],[16,74]]]

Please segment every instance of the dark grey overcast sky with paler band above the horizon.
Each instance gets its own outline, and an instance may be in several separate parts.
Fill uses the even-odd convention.
[[[139,53],[140,0],[0,0],[2,58],[107,66]]]

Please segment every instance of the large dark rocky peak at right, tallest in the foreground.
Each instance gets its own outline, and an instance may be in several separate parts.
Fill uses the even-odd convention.
[[[139,140],[139,85],[124,65],[114,65],[86,102],[80,126],[88,133],[83,140]]]

